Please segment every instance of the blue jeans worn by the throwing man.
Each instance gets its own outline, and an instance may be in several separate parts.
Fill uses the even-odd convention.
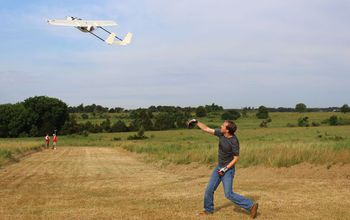
[[[225,197],[231,200],[233,203],[238,205],[241,208],[250,211],[253,206],[253,202],[250,199],[247,199],[237,193],[232,191],[233,186],[233,177],[235,175],[235,167],[229,169],[225,175],[220,176],[216,170],[220,169],[219,166],[216,166],[211,174],[210,181],[208,183],[207,189],[204,194],[204,209],[207,212],[214,212],[214,192],[218,188],[220,182],[224,186]]]

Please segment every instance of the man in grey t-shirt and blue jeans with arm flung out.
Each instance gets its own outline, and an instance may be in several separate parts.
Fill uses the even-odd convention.
[[[219,138],[219,164],[214,168],[204,194],[204,211],[199,215],[210,215],[214,212],[214,192],[222,182],[225,197],[247,210],[252,218],[258,213],[258,203],[232,191],[233,178],[235,176],[235,165],[239,159],[239,142],[235,132],[237,126],[234,122],[226,120],[221,128],[212,129],[196,119],[189,121],[189,126],[196,125],[209,134]]]

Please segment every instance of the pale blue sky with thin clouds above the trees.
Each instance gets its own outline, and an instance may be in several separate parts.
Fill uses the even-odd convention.
[[[350,104],[349,0],[0,3],[0,104]],[[66,16],[115,20],[108,29],[133,41],[110,46],[47,24]]]

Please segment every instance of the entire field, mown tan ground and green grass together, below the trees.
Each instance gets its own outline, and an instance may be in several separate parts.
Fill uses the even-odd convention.
[[[237,121],[234,191],[260,203],[259,219],[347,219],[350,126],[286,127],[300,116],[271,116],[269,128],[253,117]],[[127,140],[133,134],[58,136],[56,151],[42,150],[44,137],[0,139],[0,166],[41,151],[0,168],[1,219],[198,219],[217,138],[183,129]],[[229,218],[249,215],[219,187],[209,219]]]

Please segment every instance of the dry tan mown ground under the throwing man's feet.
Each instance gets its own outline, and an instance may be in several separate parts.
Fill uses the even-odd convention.
[[[350,167],[238,169],[235,191],[258,219],[350,219]],[[159,169],[112,148],[60,148],[0,169],[0,219],[200,219],[210,170]],[[219,186],[208,219],[249,219]]]

